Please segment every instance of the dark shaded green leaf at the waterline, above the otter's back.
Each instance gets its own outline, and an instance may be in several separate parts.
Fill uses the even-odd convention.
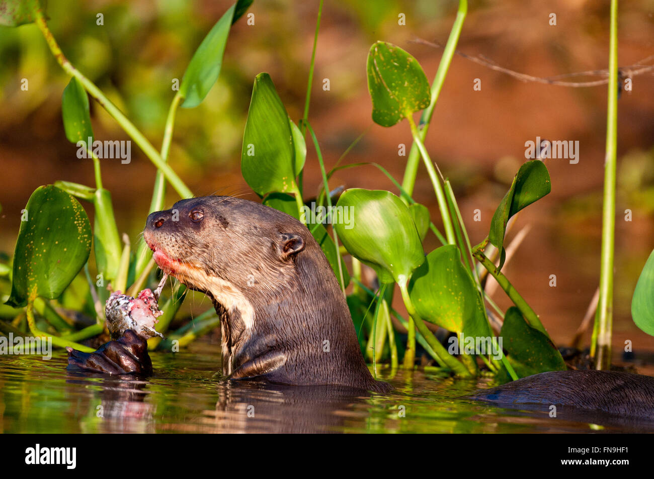
[[[504,316],[500,337],[509,362],[521,378],[539,372],[568,369],[551,340],[528,325],[515,306],[511,306]]]

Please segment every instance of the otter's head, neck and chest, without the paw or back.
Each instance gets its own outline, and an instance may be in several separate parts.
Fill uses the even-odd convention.
[[[225,376],[390,389],[368,371],[336,276],[295,218],[201,197],[150,214],[143,237],[165,273],[211,297]]]

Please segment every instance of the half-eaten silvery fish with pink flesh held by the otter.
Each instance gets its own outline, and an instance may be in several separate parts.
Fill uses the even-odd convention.
[[[163,338],[162,333],[154,329],[159,322],[157,318],[163,314],[159,310],[157,301],[168,275],[164,274],[157,289],[152,292],[150,288],[143,289],[137,297],[122,294],[120,291],[111,293],[105,305],[107,329],[111,339],[118,339],[125,331],[131,329],[143,339],[154,336]]]

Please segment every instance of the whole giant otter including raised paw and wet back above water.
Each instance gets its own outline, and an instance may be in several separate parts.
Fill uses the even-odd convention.
[[[211,297],[227,378],[390,390],[368,371],[336,277],[295,218],[244,199],[200,197],[150,214],[143,236],[165,273]],[[137,342],[130,335],[129,344],[112,341],[101,353],[127,355],[123,372],[139,371],[128,354]],[[75,353],[71,364],[81,369],[116,373],[113,365],[103,370],[104,359]],[[619,372],[547,372],[472,397],[654,418],[654,378]]]

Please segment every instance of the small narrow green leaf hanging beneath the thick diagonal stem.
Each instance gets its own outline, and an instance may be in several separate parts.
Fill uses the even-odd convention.
[[[66,88],[63,89],[61,96],[61,116],[63,116],[63,129],[66,132],[66,138],[71,143],[78,141],[88,142],[93,139],[93,128],[91,126],[91,116],[88,109],[88,95],[80,83],[80,80],[71,78]],[[92,148],[91,144],[86,144],[87,148]]]

